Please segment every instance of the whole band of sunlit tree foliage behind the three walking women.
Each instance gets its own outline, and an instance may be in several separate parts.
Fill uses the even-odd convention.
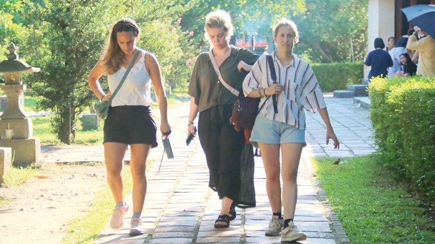
[[[15,42],[20,58],[41,68],[24,82],[40,97],[38,109],[56,113],[58,138],[71,143],[78,115],[96,102],[86,78],[117,20],[136,20],[138,46],[156,55],[168,89],[187,85],[195,57],[207,49],[205,16],[217,9],[230,13],[236,37],[255,35],[270,49],[272,25],[288,18],[299,27],[295,53],[303,58],[351,61],[351,40],[355,60],[364,56],[367,0],[0,0],[0,58]],[[105,77],[100,82],[107,92]]]

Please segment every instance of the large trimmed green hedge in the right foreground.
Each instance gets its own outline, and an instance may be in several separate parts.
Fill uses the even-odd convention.
[[[369,85],[374,139],[385,166],[435,202],[435,79],[376,78]]]

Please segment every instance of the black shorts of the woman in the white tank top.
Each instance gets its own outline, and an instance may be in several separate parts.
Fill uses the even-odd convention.
[[[104,120],[104,141],[157,147],[157,126],[149,106],[110,107]]]

